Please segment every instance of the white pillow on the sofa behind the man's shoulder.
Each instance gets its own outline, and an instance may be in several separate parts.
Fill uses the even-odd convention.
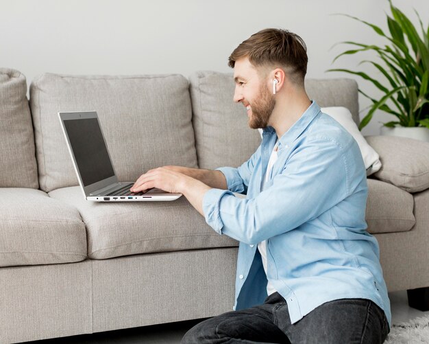
[[[360,153],[362,154],[363,162],[365,163],[365,168],[367,170],[367,176],[380,170],[380,156],[371,146],[369,146],[365,137],[362,136],[358,126],[356,126],[356,123],[353,120],[352,113],[350,113],[348,108],[343,106],[331,106],[321,108],[321,112],[330,115],[330,117],[335,119],[336,122],[339,122],[339,124],[341,124],[341,126],[343,126],[345,130],[354,137],[360,148]],[[258,130],[262,136],[262,129]]]

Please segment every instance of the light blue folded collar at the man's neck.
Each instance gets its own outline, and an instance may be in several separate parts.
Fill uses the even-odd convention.
[[[320,112],[320,106],[315,102],[315,100],[311,101],[310,106],[308,106],[307,110],[304,111],[301,117],[289,128],[289,130],[286,131],[280,137],[279,139],[279,150],[282,149],[282,147],[288,147],[299,137],[299,135],[306,130],[308,125],[312,122],[313,119],[317,116],[317,114]],[[275,130],[271,126],[267,126],[267,128],[263,129],[262,135],[272,135],[275,133]]]

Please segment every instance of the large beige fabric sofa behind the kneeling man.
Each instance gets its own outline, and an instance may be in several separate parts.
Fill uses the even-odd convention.
[[[354,80],[309,79],[306,89],[358,122]],[[232,102],[232,74],[45,73],[29,98],[27,91],[21,72],[0,69],[0,343],[232,310],[238,243],[208,227],[184,197],[84,200],[57,115],[97,111],[121,181],[160,165],[238,166],[260,135]],[[421,293],[429,286],[429,143],[366,139],[382,163],[368,178],[366,220],[384,278],[389,291]]]

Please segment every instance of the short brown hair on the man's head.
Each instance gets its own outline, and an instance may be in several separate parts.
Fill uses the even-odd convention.
[[[265,29],[252,34],[232,51],[228,66],[234,68],[236,60],[244,57],[249,58],[255,67],[283,67],[292,82],[304,84],[307,47],[302,38],[293,32]]]

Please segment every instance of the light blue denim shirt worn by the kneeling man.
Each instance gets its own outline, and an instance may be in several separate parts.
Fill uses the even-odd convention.
[[[356,141],[313,101],[280,137],[262,191],[276,139],[265,128],[248,161],[219,168],[228,190],[211,189],[203,199],[208,225],[240,242],[234,310],[262,304],[269,279],[292,323],[322,303],[357,298],[376,303],[391,324],[378,242],[366,231],[367,177]],[[267,274],[257,249],[262,240]]]

